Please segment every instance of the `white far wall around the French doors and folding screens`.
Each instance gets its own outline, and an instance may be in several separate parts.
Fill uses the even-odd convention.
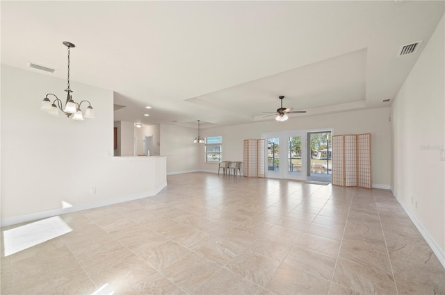
[[[223,160],[243,161],[243,140],[261,138],[261,133],[289,130],[333,128],[333,135],[371,133],[372,182],[378,187],[391,184],[391,123],[390,108],[357,110],[330,115],[299,117],[277,122],[275,119],[252,124],[205,128],[201,134],[223,136]],[[207,164],[200,158],[200,169],[218,171],[217,164]]]

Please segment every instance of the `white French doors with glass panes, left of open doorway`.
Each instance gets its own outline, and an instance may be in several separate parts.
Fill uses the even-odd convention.
[[[266,177],[306,180],[306,133],[266,133]]]

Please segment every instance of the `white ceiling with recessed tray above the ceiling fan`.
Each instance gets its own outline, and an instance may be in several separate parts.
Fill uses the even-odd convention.
[[[307,110],[292,117],[379,108],[396,96],[444,4],[1,1],[1,63],[47,74],[29,68],[35,62],[66,78],[70,41],[71,80],[115,91],[125,106],[115,120],[142,124],[273,120],[263,112],[279,108],[280,95],[284,107]],[[419,40],[417,53],[396,56]]]

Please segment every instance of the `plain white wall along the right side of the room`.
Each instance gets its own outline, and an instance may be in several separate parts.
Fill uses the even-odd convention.
[[[440,160],[439,149],[445,145],[444,55],[442,17],[392,105],[393,191],[442,253],[445,161]]]

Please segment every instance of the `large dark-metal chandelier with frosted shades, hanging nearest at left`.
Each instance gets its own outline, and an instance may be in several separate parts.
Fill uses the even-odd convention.
[[[61,110],[65,113],[65,115],[67,115],[68,118],[73,115],[72,119],[76,121],[82,121],[83,118],[94,119],[95,113],[94,110],[92,110],[90,101],[81,101],[80,103],[76,103],[72,100],[72,90],[70,89],[70,48],[74,48],[76,46],[71,42],[66,41],[63,42],[63,45],[68,47],[68,87],[67,89],[65,89],[65,92],[67,92],[67,101],[65,102],[65,108],[63,108],[63,103],[60,99],[58,99],[56,94],[49,93],[47,94],[47,96],[44,97],[42,104],[40,105],[40,110],[45,110],[48,112],[49,115],[56,117],[58,117],[58,110]],[[48,96],[54,96],[56,99],[54,99],[54,101],[51,103]],[[88,103],[88,107],[85,110],[85,115],[82,114],[82,103]]]

